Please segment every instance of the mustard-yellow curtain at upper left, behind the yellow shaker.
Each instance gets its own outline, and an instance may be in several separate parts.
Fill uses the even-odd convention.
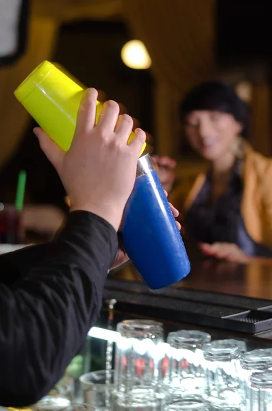
[[[121,14],[121,0],[32,0],[29,44],[14,66],[0,67],[0,169],[18,147],[29,116],[14,97],[15,88],[33,69],[51,58],[60,24],[80,18]]]

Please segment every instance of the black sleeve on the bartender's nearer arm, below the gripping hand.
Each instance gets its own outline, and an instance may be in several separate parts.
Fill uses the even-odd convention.
[[[116,251],[110,224],[73,212],[45,259],[0,285],[0,406],[35,403],[62,377],[97,319]]]

